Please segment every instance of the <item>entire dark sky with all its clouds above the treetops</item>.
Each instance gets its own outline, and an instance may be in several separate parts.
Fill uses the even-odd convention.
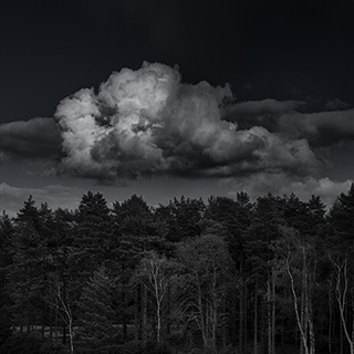
[[[352,0],[1,1],[1,210],[354,180]]]

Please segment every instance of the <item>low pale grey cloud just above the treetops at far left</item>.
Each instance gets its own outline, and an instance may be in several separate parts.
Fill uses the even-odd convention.
[[[33,197],[37,206],[40,206],[41,202],[48,202],[52,209],[60,207],[63,209],[75,209],[84,192],[82,188],[61,185],[50,185],[42,188],[19,188],[1,183],[1,212],[4,210],[8,215],[15,216],[30,195]]]

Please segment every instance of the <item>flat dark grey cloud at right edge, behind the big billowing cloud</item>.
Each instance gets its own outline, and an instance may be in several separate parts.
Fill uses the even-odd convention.
[[[226,119],[240,128],[259,125],[291,139],[305,138],[313,147],[326,147],[354,139],[354,110],[340,100],[326,103],[329,112],[302,113],[305,102],[263,100],[230,106]]]

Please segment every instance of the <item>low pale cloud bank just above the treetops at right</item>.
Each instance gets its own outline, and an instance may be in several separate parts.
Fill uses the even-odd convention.
[[[247,191],[253,199],[271,192],[274,196],[295,194],[300,199],[308,200],[311,195],[320,196],[322,201],[331,207],[341,192],[347,192],[354,181],[332,180],[327,177],[296,178],[287,174],[259,173],[248,178],[231,178],[226,180],[233,190]],[[230,192],[233,195],[233,191]]]

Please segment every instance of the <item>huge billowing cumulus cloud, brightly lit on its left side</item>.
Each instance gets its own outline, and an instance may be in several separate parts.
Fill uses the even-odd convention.
[[[223,118],[228,85],[185,84],[177,67],[144,63],[113,73],[97,93],[64,98],[55,119],[62,169],[104,181],[149,175],[217,177],[259,170],[308,174],[317,167],[305,139]],[[301,103],[268,102],[279,114]]]

